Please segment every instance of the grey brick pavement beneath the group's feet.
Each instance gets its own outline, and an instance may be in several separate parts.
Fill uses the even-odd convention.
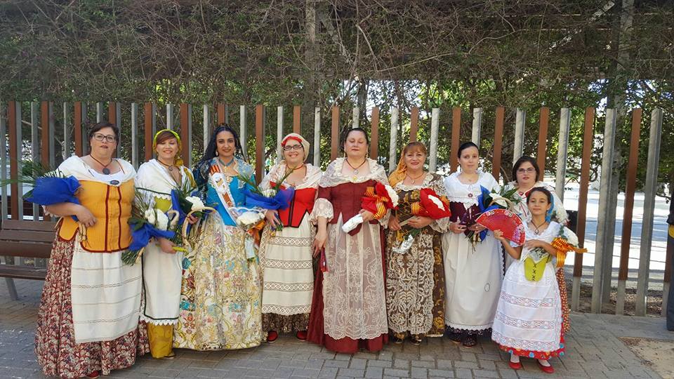
[[[41,281],[16,280],[20,300],[9,298],[0,279],[0,378],[44,378],[33,352]],[[660,378],[621,337],[674,341],[664,320],[572,314],[567,354],[553,359],[556,373],[542,373],[523,359],[524,370],[508,368],[506,354],[489,340],[466,349],[447,338],[421,346],[389,344],[376,354],[334,354],[283,335],[274,344],[248,350],[178,350],[173,360],[138,359],[112,378]],[[674,354],[663,352],[663,354]],[[673,363],[674,364],[674,363]]]

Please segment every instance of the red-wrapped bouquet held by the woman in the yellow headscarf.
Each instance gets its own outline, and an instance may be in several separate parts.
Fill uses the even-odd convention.
[[[411,213],[413,216],[421,216],[432,218],[433,220],[440,220],[451,216],[449,211],[449,199],[440,196],[430,188],[422,188],[419,190],[419,201],[411,204]],[[411,218],[400,222],[400,226],[407,225]],[[398,231],[396,240],[399,241],[397,246],[392,248],[394,253],[407,253],[414,243],[414,237],[418,236],[420,229],[412,229],[407,234],[402,230]]]

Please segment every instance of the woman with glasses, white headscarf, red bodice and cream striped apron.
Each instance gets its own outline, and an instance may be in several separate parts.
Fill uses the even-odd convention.
[[[309,142],[301,135],[286,135],[281,147],[283,160],[273,166],[260,183],[263,190],[279,186],[294,188],[288,208],[267,211],[267,225],[260,240],[262,324],[270,343],[277,339],[279,332],[294,331],[297,338],[306,339],[314,288],[311,244],[315,227],[309,215],[322,175],[320,168],[305,164]]]

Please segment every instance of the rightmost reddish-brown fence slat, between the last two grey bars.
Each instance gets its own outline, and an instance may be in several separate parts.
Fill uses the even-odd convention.
[[[625,286],[630,260],[630,241],[632,239],[632,213],[634,193],[637,187],[637,163],[639,161],[639,133],[642,109],[632,110],[632,133],[630,135],[630,157],[627,162],[627,180],[625,203],[623,204],[623,232],[620,241],[620,268],[618,271],[618,295],[616,296],[616,314],[625,311]],[[663,295],[663,299],[666,298]]]

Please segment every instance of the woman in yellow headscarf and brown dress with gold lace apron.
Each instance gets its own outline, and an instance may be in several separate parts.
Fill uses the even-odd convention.
[[[386,308],[388,327],[393,341],[402,343],[407,333],[418,345],[424,335],[444,334],[444,266],[442,265],[442,233],[449,230],[449,218],[433,220],[415,216],[412,208],[418,206],[423,188],[445,196],[442,177],[423,170],[426,147],[421,142],[410,142],[402,150],[396,170],[388,180],[398,194],[398,209],[388,222],[386,248]],[[400,222],[407,225],[400,227]],[[418,230],[407,251],[398,246],[400,236]]]

